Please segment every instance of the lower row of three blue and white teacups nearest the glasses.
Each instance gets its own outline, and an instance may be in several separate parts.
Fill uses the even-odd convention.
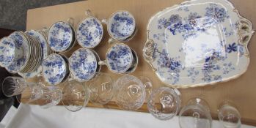
[[[138,56],[128,45],[122,43],[115,43],[109,48],[105,61],[100,61],[98,53],[89,48],[76,50],[69,59],[54,53],[43,62],[43,78],[51,85],[64,82],[69,75],[78,81],[89,81],[100,72],[103,64],[106,64],[111,72],[128,74],[135,71]]]

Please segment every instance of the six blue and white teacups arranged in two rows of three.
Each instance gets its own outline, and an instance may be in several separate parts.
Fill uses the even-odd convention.
[[[73,48],[76,41],[83,48],[76,50],[70,56],[69,63],[65,64],[62,59],[62,68],[57,65],[52,65],[48,68],[48,62],[51,61],[51,56],[45,60],[43,64],[43,76],[45,81],[51,85],[56,85],[65,81],[67,75],[67,66],[69,65],[70,76],[75,80],[88,81],[95,77],[96,72],[100,71],[101,65],[106,65],[111,72],[119,74],[128,74],[134,72],[138,64],[138,56],[134,50],[128,45],[115,43],[109,48],[106,53],[106,60],[100,61],[98,53],[88,48],[95,48],[103,38],[103,26],[100,20],[92,16],[92,12],[86,11],[86,18],[78,24],[76,30],[76,40],[74,37],[72,20],[68,22],[59,21],[54,23],[48,29],[48,45],[56,52],[65,52]],[[111,15],[108,20],[103,20],[106,23],[110,35],[109,42],[127,42],[136,34],[136,23],[134,16],[128,11],[117,11]],[[56,56],[52,55],[52,56]],[[57,57],[60,58],[61,56]],[[62,57],[63,58],[63,57]],[[61,59],[59,59],[61,60]],[[54,69],[49,75],[48,69]],[[59,70],[61,69],[61,70]],[[60,73],[62,71],[62,73]],[[69,71],[68,71],[69,72]],[[59,77],[59,78],[58,78]]]

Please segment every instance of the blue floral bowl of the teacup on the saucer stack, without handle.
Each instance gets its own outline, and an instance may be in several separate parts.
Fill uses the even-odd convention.
[[[4,37],[0,41],[0,65],[2,67],[7,67],[12,63],[14,59],[15,42],[8,37]]]

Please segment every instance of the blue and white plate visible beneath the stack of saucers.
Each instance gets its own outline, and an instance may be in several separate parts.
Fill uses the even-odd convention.
[[[40,72],[42,71],[42,63],[43,60],[46,59],[46,57],[52,53],[52,51],[50,50],[50,48],[48,48],[48,44],[47,44],[47,39],[46,39],[46,35],[47,35],[47,31],[43,31],[43,30],[39,30],[39,31],[35,31],[35,30],[30,30],[30,31],[26,31],[26,34],[30,35],[31,37],[34,37],[34,39],[37,39],[37,41],[40,42],[41,48],[42,48],[42,58],[39,62],[39,65],[37,65],[37,67],[35,67],[35,69],[32,72],[19,72],[18,74],[21,75],[23,78],[33,78],[36,75],[40,75]]]

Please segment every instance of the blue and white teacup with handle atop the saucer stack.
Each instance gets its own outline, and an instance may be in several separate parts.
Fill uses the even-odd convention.
[[[0,66],[8,67],[15,59],[23,56],[23,49],[18,48],[15,41],[9,37],[0,40]]]

